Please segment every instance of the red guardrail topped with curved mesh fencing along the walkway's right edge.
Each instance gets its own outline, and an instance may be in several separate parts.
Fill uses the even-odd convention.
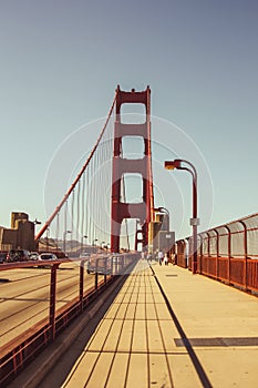
[[[177,265],[192,269],[193,237],[176,242]],[[258,213],[198,234],[197,273],[258,292]]]

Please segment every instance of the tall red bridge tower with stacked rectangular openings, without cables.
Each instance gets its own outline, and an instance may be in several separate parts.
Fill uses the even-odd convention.
[[[138,244],[142,247],[148,245],[148,225],[153,221],[153,178],[152,178],[152,152],[151,152],[151,89],[131,92],[116,90],[115,125],[114,125],[114,154],[113,154],[113,182],[112,182],[112,222],[111,222],[111,249],[120,252],[121,224],[124,218],[137,218],[141,228],[136,231],[135,249]],[[144,104],[146,120],[141,124],[125,124],[121,122],[121,106],[124,103]],[[142,159],[124,159],[122,150],[123,136],[142,136],[144,140],[144,155]],[[125,173],[142,175],[142,202],[121,202],[122,178]]]

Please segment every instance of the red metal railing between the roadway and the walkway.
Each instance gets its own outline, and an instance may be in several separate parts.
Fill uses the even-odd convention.
[[[110,256],[106,256],[106,261]],[[115,257],[118,257],[116,259]],[[107,273],[99,273],[95,270],[94,286],[84,290],[84,270],[86,259],[73,259],[80,262],[80,287],[79,296],[64,307],[56,310],[56,269],[63,263],[70,259],[59,261],[41,261],[40,266],[51,266],[50,280],[50,305],[49,317],[35,324],[25,333],[22,333],[17,338],[9,341],[0,349],[0,387],[7,386],[17,375],[41,353],[55,337],[69,326],[75,317],[92,303],[96,296],[104,292],[109,284],[111,284],[117,275],[124,274],[126,268],[130,270],[140,258],[137,253],[112,256],[111,270]],[[97,259],[97,258],[96,258]],[[102,257],[103,259],[103,257]],[[11,264],[2,264],[0,272],[8,269],[17,269],[24,267],[38,266],[38,262],[20,262]],[[106,266],[106,265],[105,265]]]

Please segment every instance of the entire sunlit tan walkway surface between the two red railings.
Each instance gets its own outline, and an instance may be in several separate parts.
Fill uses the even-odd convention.
[[[152,267],[155,275],[138,264],[90,339],[81,333],[37,387],[257,386],[258,298],[176,266]],[[11,387],[25,379],[28,371]]]

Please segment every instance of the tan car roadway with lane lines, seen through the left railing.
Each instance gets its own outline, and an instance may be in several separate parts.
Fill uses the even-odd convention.
[[[56,309],[79,297],[80,262],[64,263],[58,269]],[[4,346],[49,316],[50,267],[0,272],[0,344]],[[94,285],[85,272],[84,290]]]

